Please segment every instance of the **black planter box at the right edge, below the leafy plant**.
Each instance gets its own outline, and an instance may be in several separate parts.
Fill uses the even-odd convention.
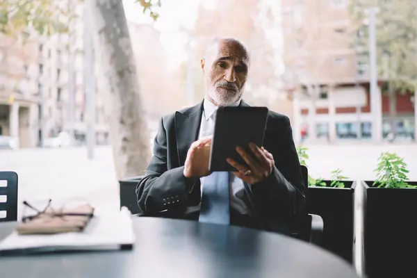
[[[373,181],[362,184],[366,275],[417,277],[417,189],[373,188]]]

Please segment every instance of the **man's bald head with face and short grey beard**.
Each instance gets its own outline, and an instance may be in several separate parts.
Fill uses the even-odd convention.
[[[235,38],[215,38],[201,63],[210,101],[227,106],[240,100],[250,65],[245,44]]]

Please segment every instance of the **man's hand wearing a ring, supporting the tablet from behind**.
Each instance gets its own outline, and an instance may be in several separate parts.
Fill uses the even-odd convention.
[[[242,156],[247,166],[240,165],[231,158],[227,158],[227,163],[238,170],[237,172],[233,172],[236,177],[239,177],[246,183],[259,183],[259,181],[263,181],[263,179],[269,177],[272,173],[275,165],[274,156],[263,147],[260,148],[254,143],[250,143],[249,147],[254,156],[258,158],[257,161],[250,154],[247,154],[243,147],[236,147],[236,152]]]

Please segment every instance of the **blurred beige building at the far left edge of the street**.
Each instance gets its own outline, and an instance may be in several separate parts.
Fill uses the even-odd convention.
[[[37,45],[22,45],[0,34],[0,136],[22,147],[36,145],[39,95]]]

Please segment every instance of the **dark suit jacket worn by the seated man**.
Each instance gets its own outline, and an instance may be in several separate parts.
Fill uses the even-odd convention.
[[[240,105],[248,106],[244,101]],[[198,138],[202,112],[203,103],[161,119],[154,155],[136,188],[139,215],[158,216],[165,211],[173,218],[198,219],[198,212],[188,211],[200,202],[199,179],[186,179],[183,165]],[[275,168],[260,183],[245,183],[245,194],[255,212],[256,227],[288,234],[291,222],[305,213],[306,193],[288,117],[269,112],[263,147],[274,156]]]

